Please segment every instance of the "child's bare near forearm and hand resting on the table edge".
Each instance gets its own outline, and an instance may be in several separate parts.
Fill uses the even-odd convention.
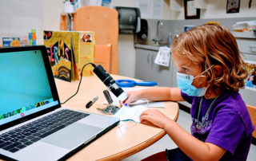
[[[193,160],[219,160],[226,150],[213,143],[204,143],[186,132],[174,120],[162,114],[156,109],[142,112],[140,120],[150,121],[160,128],[164,128],[174,143]]]

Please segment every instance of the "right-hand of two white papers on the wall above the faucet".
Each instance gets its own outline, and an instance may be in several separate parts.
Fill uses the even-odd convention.
[[[150,0],[151,18],[162,18],[163,0]]]

